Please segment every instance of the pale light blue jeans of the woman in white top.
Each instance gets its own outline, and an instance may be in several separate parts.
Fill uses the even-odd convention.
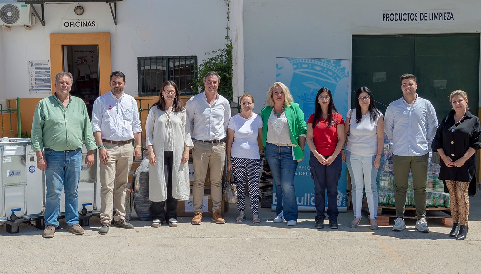
[[[370,219],[378,217],[378,187],[376,177],[378,168],[374,168],[376,155],[358,155],[346,149],[346,165],[351,174],[353,186],[354,218],[361,218],[363,188],[366,190],[367,207]]]

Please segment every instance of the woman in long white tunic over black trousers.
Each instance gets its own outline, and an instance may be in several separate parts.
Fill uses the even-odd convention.
[[[190,125],[176,83],[166,81],[145,125],[152,226],[177,226],[177,200],[189,199]]]

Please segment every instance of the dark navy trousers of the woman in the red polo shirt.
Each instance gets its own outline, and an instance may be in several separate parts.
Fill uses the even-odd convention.
[[[323,155],[328,158],[329,155]],[[316,223],[324,222],[326,215],[326,190],[328,194],[328,215],[329,221],[336,221],[339,215],[337,208],[337,183],[341,178],[342,159],[338,155],[330,165],[321,164],[316,156],[312,154],[309,158],[311,166],[311,177],[314,180],[314,204],[316,205]]]

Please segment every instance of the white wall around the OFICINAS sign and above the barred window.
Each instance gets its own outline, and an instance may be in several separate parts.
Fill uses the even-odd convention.
[[[126,75],[126,92],[138,95],[137,57],[197,55],[225,45],[227,6],[221,0],[127,0],[117,3],[117,25],[105,2],[82,2],[84,14],[74,13],[76,3],[45,4],[45,26],[38,21],[30,32],[12,27],[0,31],[3,60],[0,59],[0,99],[30,95],[27,60],[50,60],[50,33],[66,32],[61,20],[96,19],[98,28],[68,32],[110,32],[112,70]],[[36,5],[38,11],[39,5]],[[54,75],[57,72],[52,72]],[[53,79],[52,79],[53,80]],[[48,95],[45,95],[48,96]],[[45,97],[44,96],[44,97]]]

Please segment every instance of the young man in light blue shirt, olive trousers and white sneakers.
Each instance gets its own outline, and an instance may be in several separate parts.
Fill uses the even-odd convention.
[[[396,185],[396,220],[394,231],[406,228],[404,210],[409,171],[413,176],[416,229],[429,232],[426,222],[426,180],[429,148],[438,128],[438,118],[431,102],[416,93],[416,76],[401,76],[403,97],[389,104],[384,115],[386,135],[392,140],[392,164]]]

